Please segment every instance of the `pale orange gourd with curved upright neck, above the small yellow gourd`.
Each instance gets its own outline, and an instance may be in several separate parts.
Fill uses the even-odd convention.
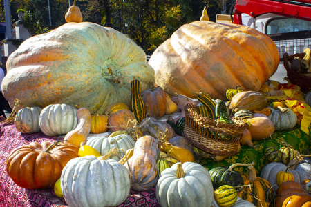
[[[87,108],[79,108],[77,110],[78,123],[74,130],[68,132],[64,140],[74,146],[81,146],[81,143],[86,144],[88,135],[91,132],[92,118],[91,112]]]

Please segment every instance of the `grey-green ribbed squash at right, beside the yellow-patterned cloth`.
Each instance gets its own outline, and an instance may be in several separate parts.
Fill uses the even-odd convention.
[[[267,117],[272,121],[275,130],[290,130],[297,124],[297,116],[290,108],[270,108],[271,114]]]

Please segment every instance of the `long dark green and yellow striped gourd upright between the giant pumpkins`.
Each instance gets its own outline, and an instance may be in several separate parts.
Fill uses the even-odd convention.
[[[131,93],[131,110],[138,123],[140,123],[140,121],[146,116],[144,101],[142,101],[142,96],[140,95],[140,81],[134,79],[131,82]]]

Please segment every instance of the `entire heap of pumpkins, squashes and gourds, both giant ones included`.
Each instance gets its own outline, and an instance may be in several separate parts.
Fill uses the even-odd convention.
[[[24,41],[8,58],[2,91],[17,110],[17,130],[64,136],[13,150],[6,170],[15,184],[55,188],[68,206],[117,206],[130,189],[155,187],[161,206],[310,206],[308,155],[267,148],[271,163],[260,177],[254,163],[207,170],[182,136],[189,103],[218,123],[247,121],[244,146],[296,126],[296,113],[272,96],[279,92],[268,80],[279,63],[272,40],[251,28],[198,21],[176,31],[148,64],[124,34],[81,22],[72,7],[68,23]],[[310,94],[297,100],[310,105]]]

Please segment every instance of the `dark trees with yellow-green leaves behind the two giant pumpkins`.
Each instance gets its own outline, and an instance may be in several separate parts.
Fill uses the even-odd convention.
[[[32,34],[40,34],[66,23],[65,14],[73,0],[10,1],[12,22],[18,19],[16,11],[23,8],[29,11],[26,24]],[[180,26],[199,21],[202,9],[209,4],[207,13],[210,21],[223,10],[223,3],[231,5],[234,0],[77,0],[83,21],[90,21],[114,28],[133,39],[149,55],[161,43],[171,37]],[[26,12],[27,13],[27,12]],[[4,10],[0,7],[0,18]]]

